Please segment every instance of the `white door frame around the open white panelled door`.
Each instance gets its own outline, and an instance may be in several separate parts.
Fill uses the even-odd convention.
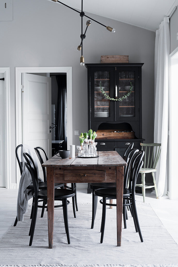
[[[16,146],[22,143],[22,73],[66,73],[67,75],[67,149],[72,140],[72,67],[16,67],[15,68],[15,103],[16,103]],[[17,188],[20,170],[16,162]]]

